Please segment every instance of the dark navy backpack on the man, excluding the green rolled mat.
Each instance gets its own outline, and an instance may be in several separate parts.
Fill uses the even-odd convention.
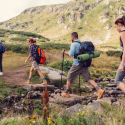
[[[90,42],[90,41],[88,41],[88,42],[87,41],[85,41],[85,42],[75,41],[75,42],[80,44],[80,48],[79,48],[79,53],[75,54],[74,58],[77,58],[78,55],[82,55],[82,54],[85,54],[85,53],[88,53],[89,55],[94,54],[95,47],[94,47],[92,42]],[[92,59],[90,57],[88,60],[80,61],[79,63],[83,67],[89,67],[92,63]]]

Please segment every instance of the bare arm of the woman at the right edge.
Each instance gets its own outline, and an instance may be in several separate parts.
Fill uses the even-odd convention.
[[[123,42],[124,52],[122,55],[122,61],[121,61],[120,67],[119,67],[119,71],[123,72],[124,71],[124,63],[125,63],[125,33],[124,32],[121,34],[121,39]]]

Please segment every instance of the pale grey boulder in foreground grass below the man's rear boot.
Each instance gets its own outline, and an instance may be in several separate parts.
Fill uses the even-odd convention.
[[[93,111],[96,113],[102,113],[105,111],[105,109],[102,107],[101,102],[95,101],[91,103],[90,105],[84,106],[83,109],[85,111]]]

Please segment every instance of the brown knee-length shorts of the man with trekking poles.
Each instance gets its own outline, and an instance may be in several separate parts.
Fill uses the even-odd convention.
[[[86,82],[92,80],[88,67],[82,67],[80,65],[72,65],[68,73],[67,80],[72,83],[79,75],[82,75]]]

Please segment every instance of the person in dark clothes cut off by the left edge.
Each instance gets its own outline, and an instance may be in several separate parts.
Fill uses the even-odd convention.
[[[3,75],[3,67],[2,67],[2,58],[3,53],[5,52],[5,47],[2,43],[0,43],[0,75]]]

